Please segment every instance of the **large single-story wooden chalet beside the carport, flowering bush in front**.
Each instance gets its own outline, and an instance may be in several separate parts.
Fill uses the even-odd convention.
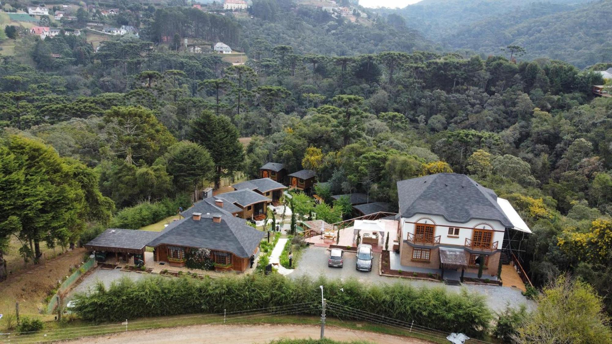
[[[148,246],[154,247],[155,261],[167,261],[170,266],[185,266],[190,253],[208,249],[215,270],[245,271],[263,237],[262,231],[232,215],[193,212],[170,223]]]

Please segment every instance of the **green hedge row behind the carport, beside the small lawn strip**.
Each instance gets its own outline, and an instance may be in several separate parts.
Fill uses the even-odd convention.
[[[155,203],[143,202],[133,207],[121,209],[111,220],[111,228],[138,230],[142,226],[159,222],[168,216],[175,215],[179,207],[187,209],[191,200],[187,195],[176,198],[163,198]]]

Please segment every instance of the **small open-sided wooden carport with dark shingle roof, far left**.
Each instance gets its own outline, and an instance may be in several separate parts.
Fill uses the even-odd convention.
[[[112,256],[114,254],[117,262],[119,262],[119,256],[124,261],[128,261],[133,256],[135,264],[138,264],[138,260],[142,260],[142,264],[146,264],[144,260],[145,247],[149,241],[152,241],[158,235],[159,233],[152,231],[108,228],[84,246],[86,249],[96,252],[97,260],[106,260],[108,255]]]

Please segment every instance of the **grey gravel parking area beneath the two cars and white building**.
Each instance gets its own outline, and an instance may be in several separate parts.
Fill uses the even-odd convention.
[[[344,256],[344,267],[328,267],[327,266],[327,249],[325,247],[310,246],[300,253],[300,260],[297,264],[297,269],[293,274],[288,275],[289,278],[295,279],[302,275],[310,275],[318,277],[319,275],[325,275],[330,279],[350,279],[355,278],[360,282],[364,283],[405,283],[406,285],[412,285],[426,288],[446,288],[446,290],[459,292],[461,288],[465,288],[470,293],[483,294],[487,298],[487,303],[494,311],[501,311],[506,309],[506,305],[510,304],[518,306],[519,304],[526,304],[529,310],[535,308],[535,302],[528,300],[521,294],[521,291],[517,288],[511,288],[506,286],[494,286],[494,285],[471,285],[464,284],[462,286],[444,285],[443,283],[430,282],[427,280],[414,280],[414,279],[400,279],[396,277],[386,277],[378,274],[378,261],[380,254],[375,253],[373,267],[371,272],[356,271],[356,257],[354,253],[345,252]]]

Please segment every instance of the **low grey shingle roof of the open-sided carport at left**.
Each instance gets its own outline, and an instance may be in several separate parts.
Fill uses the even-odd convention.
[[[159,232],[141,230],[120,230],[108,228],[86,246],[109,247],[115,249],[141,250],[149,241],[159,236]]]

